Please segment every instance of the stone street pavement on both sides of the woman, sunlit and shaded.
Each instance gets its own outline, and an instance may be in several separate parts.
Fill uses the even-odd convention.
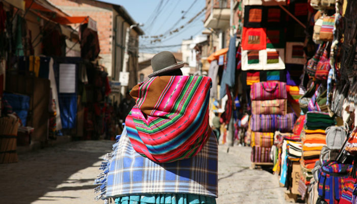
[[[78,204],[95,201],[93,185],[101,159],[113,141],[79,141],[19,155],[0,164],[0,203]],[[217,203],[285,203],[284,189],[264,170],[249,169],[250,148],[219,146]]]

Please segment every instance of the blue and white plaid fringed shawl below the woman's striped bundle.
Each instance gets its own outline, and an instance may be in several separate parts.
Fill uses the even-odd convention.
[[[119,138],[119,137],[118,137]],[[217,197],[218,146],[214,134],[198,154],[171,163],[155,163],[133,148],[126,128],[103,162],[96,199],[149,193],[189,193]]]

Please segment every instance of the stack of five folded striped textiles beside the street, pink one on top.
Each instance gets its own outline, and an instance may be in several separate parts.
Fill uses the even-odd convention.
[[[291,132],[295,116],[287,113],[287,91],[284,82],[259,82],[251,85],[251,161],[271,162],[269,152],[274,132]]]

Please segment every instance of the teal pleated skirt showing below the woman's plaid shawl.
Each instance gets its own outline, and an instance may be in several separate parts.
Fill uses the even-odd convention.
[[[115,198],[115,204],[216,204],[216,198],[194,194],[147,194]]]

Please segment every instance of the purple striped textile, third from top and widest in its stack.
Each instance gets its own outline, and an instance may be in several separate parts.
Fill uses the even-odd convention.
[[[291,132],[295,123],[294,113],[286,115],[256,115],[250,118],[250,129],[253,132]]]

